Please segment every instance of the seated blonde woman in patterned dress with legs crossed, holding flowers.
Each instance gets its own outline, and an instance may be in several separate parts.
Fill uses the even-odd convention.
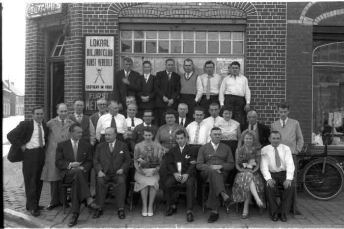
[[[264,206],[264,183],[259,171],[260,150],[252,146],[256,134],[252,130],[245,130],[241,134],[244,145],[235,152],[235,168],[238,173],[235,176],[232,188],[232,200],[244,202],[242,218],[246,219],[249,213],[251,195],[255,198],[259,208]]]

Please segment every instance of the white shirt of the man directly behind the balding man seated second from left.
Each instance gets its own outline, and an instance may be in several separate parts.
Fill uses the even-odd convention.
[[[96,129],[96,138],[100,141],[102,134],[105,134],[105,129],[111,126],[112,114],[103,114],[99,117]],[[124,134],[127,128],[127,121],[122,114],[115,115],[116,127],[118,134]]]

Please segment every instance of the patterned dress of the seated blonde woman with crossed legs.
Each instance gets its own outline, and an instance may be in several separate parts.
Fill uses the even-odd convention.
[[[244,168],[244,163],[247,163],[250,158],[253,158],[255,161],[260,160],[260,150],[252,151],[253,147],[251,147],[250,150],[246,150],[245,146],[238,149],[240,168]],[[254,168],[255,166],[252,170],[254,170]],[[234,202],[243,202],[247,199],[252,180],[256,184],[259,199],[264,202],[264,183],[259,170],[255,173],[244,170],[236,174],[232,188],[232,199]]]

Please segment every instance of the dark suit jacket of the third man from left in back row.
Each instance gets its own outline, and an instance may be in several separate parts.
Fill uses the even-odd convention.
[[[154,90],[156,93],[156,107],[177,109],[177,98],[180,92],[180,76],[177,73],[172,72],[171,79],[169,81],[169,76],[167,75],[166,70],[158,72],[154,82]],[[167,103],[164,102],[164,96],[168,99],[173,99],[174,102],[171,107],[168,107]]]

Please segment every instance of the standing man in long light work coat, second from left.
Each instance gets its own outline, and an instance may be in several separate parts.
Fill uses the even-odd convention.
[[[61,200],[61,180],[59,170],[55,166],[57,143],[70,139],[69,127],[74,123],[68,115],[67,105],[59,103],[56,106],[57,117],[51,119],[47,126],[50,129],[48,146],[45,151],[45,163],[41,179],[50,182],[51,201],[47,209],[52,210],[58,205],[62,205]],[[69,207],[69,205],[67,204]]]

